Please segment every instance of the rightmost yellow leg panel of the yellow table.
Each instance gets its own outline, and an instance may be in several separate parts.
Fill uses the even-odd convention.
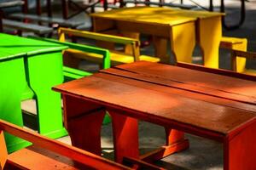
[[[221,16],[198,20],[197,29],[204,65],[218,68],[218,48],[222,37]]]

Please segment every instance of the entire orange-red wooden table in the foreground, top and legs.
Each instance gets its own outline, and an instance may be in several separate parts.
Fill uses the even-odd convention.
[[[127,156],[150,162],[185,150],[185,132],[223,144],[224,170],[244,170],[256,169],[255,81],[233,71],[140,61],[54,89],[63,96],[67,131],[79,148],[101,155],[100,131],[108,111],[118,162]],[[166,144],[141,156],[138,120],[164,127]]]

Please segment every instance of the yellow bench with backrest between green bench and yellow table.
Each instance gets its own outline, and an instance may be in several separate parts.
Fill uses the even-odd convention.
[[[119,37],[108,34],[96,33],[91,31],[78,31],[68,28],[59,28],[59,40],[61,42],[65,42],[65,36],[70,35],[73,37],[83,37],[88,39],[94,39],[96,41],[130,45],[132,48],[132,54],[127,54],[125,52],[121,52],[115,49],[110,49],[110,59],[112,65],[119,65],[125,63],[131,63],[138,60],[145,60],[151,62],[159,62],[159,58],[155,58],[148,55],[140,54],[140,42],[137,39],[128,38],[128,37]],[[65,58],[68,59],[86,59],[93,62],[101,63],[102,56],[97,54],[84,53],[75,49],[67,49],[64,53]],[[77,61],[79,62],[79,61]]]

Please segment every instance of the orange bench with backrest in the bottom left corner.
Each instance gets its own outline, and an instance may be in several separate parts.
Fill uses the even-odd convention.
[[[8,155],[3,132],[26,139],[45,150],[67,156],[71,161],[78,161],[84,165],[84,169],[129,169],[129,167],[108,161],[101,156],[46,138],[38,133],[32,133],[3,120],[0,120],[0,169],[4,168],[5,165],[7,165],[7,169],[10,169],[9,166],[13,169],[79,169],[74,167],[75,164],[68,165],[29,149],[18,150]]]

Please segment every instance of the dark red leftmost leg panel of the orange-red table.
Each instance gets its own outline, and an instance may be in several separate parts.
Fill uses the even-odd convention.
[[[84,99],[63,94],[64,122],[72,144],[101,156],[101,127],[105,109]]]

